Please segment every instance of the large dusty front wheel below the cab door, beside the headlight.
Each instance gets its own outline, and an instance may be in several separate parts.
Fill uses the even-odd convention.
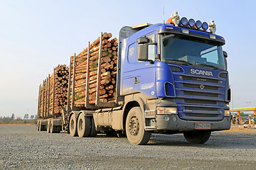
[[[135,107],[129,111],[125,131],[132,145],[146,145],[149,142],[151,132],[145,130],[141,108]]]

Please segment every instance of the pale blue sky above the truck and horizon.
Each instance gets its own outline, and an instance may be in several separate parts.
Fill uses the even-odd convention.
[[[163,14],[164,6],[164,14]],[[58,64],[69,64],[100,32],[117,37],[123,26],[161,23],[178,11],[214,20],[226,40],[233,86],[231,108],[256,107],[255,1],[0,0],[0,115],[37,113],[38,86]],[[250,103],[249,103],[250,102]]]

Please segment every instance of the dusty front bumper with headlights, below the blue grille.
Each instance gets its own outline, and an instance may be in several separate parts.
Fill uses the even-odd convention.
[[[155,120],[147,121],[147,123],[149,122],[152,124],[146,125],[146,130],[189,131],[196,130],[196,123],[210,123],[210,131],[229,130],[231,126],[229,117],[224,117],[220,121],[194,121],[182,120],[178,115],[156,115]]]

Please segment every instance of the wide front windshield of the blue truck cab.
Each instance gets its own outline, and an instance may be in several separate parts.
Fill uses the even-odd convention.
[[[221,45],[178,35],[161,35],[161,61],[225,70]]]

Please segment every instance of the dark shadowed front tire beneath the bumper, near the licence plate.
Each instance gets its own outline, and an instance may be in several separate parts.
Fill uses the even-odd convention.
[[[193,132],[183,132],[186,140],[193,144],[203,144],[210,138],[209,130],[197,130]]]

